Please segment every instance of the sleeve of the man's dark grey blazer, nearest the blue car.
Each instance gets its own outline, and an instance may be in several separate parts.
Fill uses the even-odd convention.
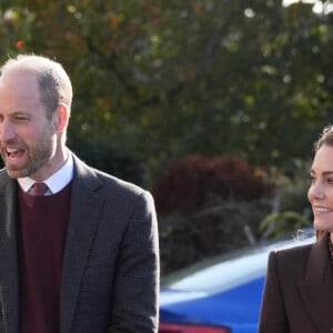
[[[152,195],[143,191],[121,242],[112,295],[112,333],[155,333],[159,324],[160,262]]]

